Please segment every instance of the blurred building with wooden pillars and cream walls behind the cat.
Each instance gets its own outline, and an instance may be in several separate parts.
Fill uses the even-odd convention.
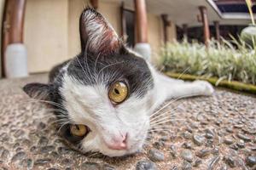
[[[79,54],[79,14],[88,5],[129,46],[148,43],[153,61],[167,42],[230,40],[252,23],[245,0],[0,0],[1,77],[47,72]]]

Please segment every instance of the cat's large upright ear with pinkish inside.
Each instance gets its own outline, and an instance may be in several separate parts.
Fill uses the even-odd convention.
[[[79,31],[81,50],[92,53],[111,54],[121,48],[122,42],[108,21],[94,10],[85,8],[80,16]]]

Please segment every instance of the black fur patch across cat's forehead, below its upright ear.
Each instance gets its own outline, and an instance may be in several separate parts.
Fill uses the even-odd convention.
[[[84,56],[86,55],[86,56]],[[143,97],[148,89],[153,88],[153,80],[147,63],[134,54],[121,50],[119,54],[110,54],[109,56],[99,56],[96,54],[79,54],[68,66],[67,73],[75,77],[84,85],[96,84],[94,77],[115,74],[107,80],[106,86],[117,81],[128,82],[130,93],[138,97]],[[84,68],[81,69],[81,66]],[[87,76],[84,75],[86,71]]]

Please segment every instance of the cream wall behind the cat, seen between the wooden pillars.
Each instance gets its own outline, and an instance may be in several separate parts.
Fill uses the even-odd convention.
[[[27,0],[24,42],[30,73],[49,71],[79,54],[79,15],[88,4],[89,0]],[[100,0],[98,11],[120,35],[120,2]],[[154,60],[163,42],[162,21],[155,14],[148,14],[148,41]]]

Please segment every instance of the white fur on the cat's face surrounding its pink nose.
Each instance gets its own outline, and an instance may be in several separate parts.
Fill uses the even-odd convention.
[[[123,156],[139,150],[149,128],[148,110],[152,99],[149,91],[143,99],[132,96],[123,104],[113,107],[108,99],[108,90],[102,83],[84,86],[65,75],[61,94],[68,115],[75,124],[84,124],[91,129],[82,141],[84,152],[100,151],[107,156]],[[128,133],[128,150],[110,150],[106,142],[119,133]]]

